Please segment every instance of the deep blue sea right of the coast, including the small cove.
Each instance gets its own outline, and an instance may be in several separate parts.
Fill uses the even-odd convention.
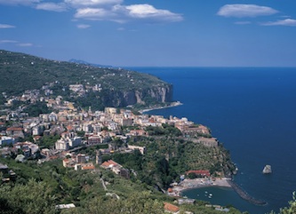
[[[132,69],[172,83],[173,99],[184,104],[148,114],[185,116],[210,127],[239,169],[236,183],[268,205],[246,202],[229,188],[192,189],[185,195],[214,204],[231,204],[250,214],[278,212],[288,205],[296,191],[296,68]],[[271,165],[272,174],[262,174],[266,164]]]

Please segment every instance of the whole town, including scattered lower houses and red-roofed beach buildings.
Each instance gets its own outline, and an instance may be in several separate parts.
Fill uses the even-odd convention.
[[[77,88],[81,89],[81,86],[71,86],[71,90],[76,92]],[[46,87],[44,90],[47,90]],[[14,157],[16,162],[37,160],[38,164],[42,164],[57,159],[65,168],[93,171],[98,171],[98,165],[100,169],[110,170],[122,178],[129,179],[131,173],[137,176],[137,171],[125,169],[114,160],[103,160],[102,155],[127,154],[134,150],[138,150],[140,155],[145,155],[146,147],[134,145],[134,141],[129,139],[164,134],[163,130],[158,128],[171,127],[173,131],[178,132],[173,136],[175,138],[178,136],[178,139],[186,139],[204,147],[219,147],[219,141],[212,138],[207,127],[188,121],[185,117],[164,118],[162,115],[142,114],[132,108],[105,107],[104,111],[92,111],[91,107],[87,110],[79,109],[74,103],[63,100],[61,96],[44,99],[36,90],[26,91],[19,98],[8,99],[6,106],[12,105],[15,99],[29,102],[40,99],[47,107],[52,108],[49,114],[31,117],[23,113],[22,107],[19,107],[18,110],[8,111],[0,117],[0,154],[4,158]],[[52,138],[52,142],[44,144],[44,138]],[[95,154],[84,153],[84,149],[88,147],[94,147]],[[1,171],[6,172],[2,182],[13,181],[16,178],[16,173],[9,170],[9,166],[3,163],[0,166]],[[168,195],[180,197],[180,192],[184,188],[213,184],[208,169],[188,170],[185,175],[187,178],[193,175],[193,178],[199,178],[196,182],[202,183],[188,183],[188,180],[184,180],[185,176],[180,175],[180,181],[184,182],[172,184],[173,187],[167,190]],[[100,178],[100,181],[105,191],[108,191],[108,182],[103,178]],[[187,199],[179,201],[179,204],[195,202]],[[58,209],[66,209],[75,205],[69,203],[57,206]],[[179,208],[165,203],[164,210],[173,210],[175,213]]]

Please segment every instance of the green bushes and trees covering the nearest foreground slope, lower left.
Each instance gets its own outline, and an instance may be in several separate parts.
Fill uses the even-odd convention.
[[[121,178],[109,170],[94,172],[63,168],[61,160],[25,163],[2,159],[18,177],[0,186],[1,213],[164,213],[164,202],[173,198],[152,186]],[[1,177],[3,175],[1,174]],[[107,184],[104,190],[101,180]],[[74,202],[75,209],[55,210],[55,205]],[[204,202],[182,205],[180,210],[215,214]],[[182,213],[182,212],[181,212]],[[240,213],[231,209],[229,214]]]

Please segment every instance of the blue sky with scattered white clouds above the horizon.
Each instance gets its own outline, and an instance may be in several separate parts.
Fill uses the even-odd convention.
[[[296,67],[296,1],[0,0],[0,49],[123,67]]]

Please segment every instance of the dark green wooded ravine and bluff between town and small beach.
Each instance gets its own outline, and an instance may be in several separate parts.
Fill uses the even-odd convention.
[[[137,178],[150,186],[167,189],[188,170],[210,170],[213,175],[230,175],[235,170],[223,147],[203,145],[171,138],[137,138],[134,145],[146,147],[146,154],[135,150],[131,154],[108,156],[125,168],[137,171]],[[132,177],[133,178],[133,177]]]

